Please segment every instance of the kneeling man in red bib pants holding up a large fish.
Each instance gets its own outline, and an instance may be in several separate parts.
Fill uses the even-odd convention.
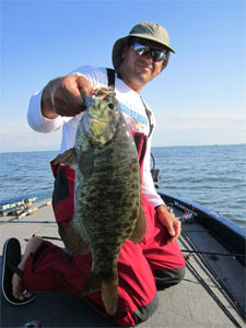
[[[80,67],[67,77],[50,81],[35,94],[27,114],[28,122],[36,131],[49,132],[62,127],[61,152],[65,152],[73,147],[78,122],[86,109],[83,94],[93,94],[94,90],[109,84],[115,87],[139,153],[142,208],[148,225],[140,244],[133,245],[128,239],[120,250],[118,307],[113,317],[122,326],[134,326],[150,317],[157,307],[156,286],[165,289],[174,285],[185,274],[184,257],[176,242],[180,223],[166,210],[151,177],[150,150],[155,120],[140,96],[142,87],[167,66],[171,52],[174,50],[165,28],[151,22],[137,24],[113,47],[115,72],[105,68]],[[52,162],[51,167],[56,178],[54,211],[59,233],[63,236],[74,212],[74,171]],[[20,271],[12,274],[13,292],[9,295],[12,304],[15,300],[19,304],[33,300],[32,294],[23,293],[24,286],[30,290],[65,289],[108,316],[101,292],[82,297],[83,284],[91,269],[91,254],[70,256],[51,243],[35,237],[20,262],[17,245],[16,239],[10,239],[4,246],[5,260],[11,247],[19,253],[19,259],[5,270],[17,271],[14,269],[17,266],[24,271],[23,279],[17,277]]]

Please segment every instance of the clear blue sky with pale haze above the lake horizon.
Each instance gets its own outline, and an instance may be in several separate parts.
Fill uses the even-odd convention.
[[[90,65],[142,21],[171,38],[168,67],[141,91],[157,121],[153,147],[246,142],[245,1],[1,0],[0,152],[59,150],[61,131],[26,121],[31,96]]]

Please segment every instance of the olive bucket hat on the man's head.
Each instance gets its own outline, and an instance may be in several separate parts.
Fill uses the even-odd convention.
[[[141,37],[156,42],[165,46],[169,51],[175,52],[175,50],[169,47],[169,36],[164,27],[152,22],[142,22],[134,25],[127,36],[117,39],[117,42],[114,44],[112,61],[115,70],[118,70],[121,63],[122,48],[129,42],[130,37]]]

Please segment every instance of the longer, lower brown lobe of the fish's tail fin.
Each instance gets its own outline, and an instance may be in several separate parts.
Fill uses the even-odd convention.
[[[114,316],[118,306],[118,274],[116,273],[112,280],[102,281],[102,298],[106,312]]]

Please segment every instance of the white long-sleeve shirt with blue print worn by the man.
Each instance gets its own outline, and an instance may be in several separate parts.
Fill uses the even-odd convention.
[[[107,72],[105,68],[92,68],[92,67],[80,67],[72,71],[71,74],[85,77],[94,89],[106,87],[108,85]],[[147,117],[145,107],[139,95],[139,93],[131,90],[122,80],[116,77],[115,79],[115,92],[116,98],[119,102],[120,109],[125,116],[126,121],[130,126],[131,130],[144,133],[149,136],[150,122]],[[27,120],[35,131],[38,132],[51,132],[62,127],[62,140],[60,152],[65,152],[70,148],[73,148],[75,141],[75,132],[78,124],[83,113],[74,117],[61,117],[58,116],[55,119],[48,119],[42,115],[40,101],[43,90],[35,93],[30,101]],[[151,112],[151,109],[148,107]],[[154,115],[151,112],[152,124],[155,126]],[[143,178],[142,178],[142,192],[145,198],[157,207],[164,204],[162,198],[157,195],[152,175],[150,169],[150,156],[151,156],[151,139],[152,133],[148,139],[148,147],[145,157],[143,161]]]

